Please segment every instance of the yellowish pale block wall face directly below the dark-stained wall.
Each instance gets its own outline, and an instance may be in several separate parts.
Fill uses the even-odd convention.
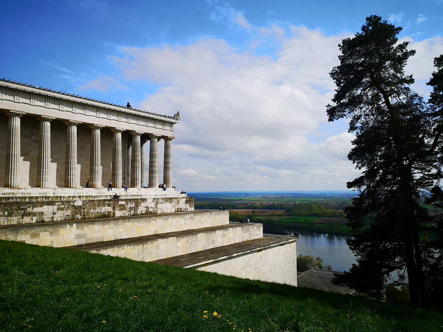
[[[67,247],[229,224],[229,211],[192,211],[72,222],[0,226],[0,239]]]

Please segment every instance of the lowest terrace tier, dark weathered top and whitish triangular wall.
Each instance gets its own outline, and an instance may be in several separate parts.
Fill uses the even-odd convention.
[[[153,263],[297,286],[297,239],[264,234],[261,239],[160,259]]]

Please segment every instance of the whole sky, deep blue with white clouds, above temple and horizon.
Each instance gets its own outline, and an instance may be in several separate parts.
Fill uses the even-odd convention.
[[[327,74],[371,14],[404,27],[426,95],[442,0],[1,1],[0,77],[181,111],[174,178],[188,190],[345,189],[358,173],[346,123],[326,121]]]

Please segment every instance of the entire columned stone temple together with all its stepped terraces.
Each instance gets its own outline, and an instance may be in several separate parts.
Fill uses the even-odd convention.
[[[296,286],[298,237],[229,222],[228,210],[194,210],[194,197],[171,188],[178,123],[179,112],[0,80],[0,240]],[[158,188],[160,141],[167,190]]]

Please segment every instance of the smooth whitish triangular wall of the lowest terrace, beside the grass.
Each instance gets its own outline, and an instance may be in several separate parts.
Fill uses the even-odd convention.
[[[297,286],[296,242],[281,243],[192,268]]]

